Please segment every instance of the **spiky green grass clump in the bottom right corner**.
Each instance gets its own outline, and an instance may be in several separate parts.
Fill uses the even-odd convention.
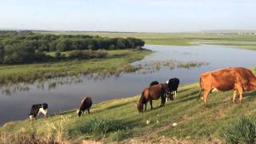
[[[225,127],[222,137],[226,143],[254,143],[256,140],[255,125],[250,118],[242,117],[234,125]]]

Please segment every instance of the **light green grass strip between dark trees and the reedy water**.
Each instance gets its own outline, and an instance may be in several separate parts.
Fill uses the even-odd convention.
[[[109,74],[120,72],[130,62],[150,54],[149,50],[109,50],[107,58],[66,60],[26,65],[0,65],[0,84],[42,81],[45,78],[77,76],[81,74]]]

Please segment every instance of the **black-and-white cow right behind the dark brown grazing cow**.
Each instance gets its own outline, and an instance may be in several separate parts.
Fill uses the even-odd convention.
[[[170,78],[169,81],[166,82],[166,84],[167,84],[168,97],[170,97],[170,95],[174,94],[174,98],[176,98],[178,85],[179,85],[179,79],[178,78]]]

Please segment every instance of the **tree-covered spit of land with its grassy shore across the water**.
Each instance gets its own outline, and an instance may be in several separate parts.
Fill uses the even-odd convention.
[[[0,32],[0,84],[80,74],[118,73],[150,54],[138,38]]]

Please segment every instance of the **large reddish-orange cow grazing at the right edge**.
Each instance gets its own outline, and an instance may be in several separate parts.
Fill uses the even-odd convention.
[[[205,90],[203,98],[205,105],[208,95],[214,91],[234,90],[233,101],[236,102],[237,93],[239,93],[239,101],[242,102],[244,91],[256,90],[256,77],[250,70],[242,67],[214,70],[201,74],[198,100],[202,89]]]

